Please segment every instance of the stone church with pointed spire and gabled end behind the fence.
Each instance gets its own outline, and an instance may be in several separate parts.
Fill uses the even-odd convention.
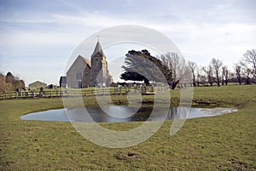
[[[90,60],[79,55],[67,71],[68,88],[106,87],[111,83],[108,62],[99,41]]]

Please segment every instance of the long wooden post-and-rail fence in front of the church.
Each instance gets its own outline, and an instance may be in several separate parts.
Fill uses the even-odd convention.
[[[42,92],[9,92],[1,93],[0,100],[9,99],[29,99],[29,98],[54,98],[54,97],[76,97],[108,94],[155,94],[160,91],[166,91],[168,87],[137,87],[137,88],[93,88],[93,89],[47,89]]]

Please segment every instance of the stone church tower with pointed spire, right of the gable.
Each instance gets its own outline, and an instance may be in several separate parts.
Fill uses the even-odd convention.
[[[108,79],[110,77],[108,74],[108,62],[99,40],[90,58],[90,86],[108,86]]]

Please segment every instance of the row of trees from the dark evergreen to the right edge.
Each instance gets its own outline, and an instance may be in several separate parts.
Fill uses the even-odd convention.
[[[181,54],[173,52],[163,54],[158,59],[146,49],[131,50],[125,55],[125,66],[122,66],[125,72],[120,78],[149,84],[150,81],[162,82],[160,79],[164,77],[172,89],[177,84],[190,84],[195,87],[256,83],[256,49],[247,50],[241,60],[233,64],[233,69],[216,58],[212,58],[207,66],[198,66],[193,61],[184,60]]]

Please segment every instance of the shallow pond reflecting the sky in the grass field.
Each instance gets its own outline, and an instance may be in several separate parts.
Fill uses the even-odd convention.
[[[106,111],[107,110],[107,111]],[[234,108],[186,108],[171,107],[164,110],[165,113],[160,115],[151,115],[153,107],[141,107],[139,110],[126,107],[124,105],[109,105],[102,111],[99,107],[73,108],[73,109],[56,109],[49,111],[38,111],[21,116],[22,120],[40,120],[40,121],[62,121],[62,122],[79,122],[79,123],[127,123],[134,121],[163,121],[173,118],[184,119],[194,117],[213,117],[225,113],[237,111]],[[159,110],[159,109],[158,109]],[[166,113],[167,112],[167,113]],[[107,113],[112,113],[108,115]],[[155,111],[155,113],[160,113]],[[187,113],[187,114],[184,114]],[[149,117],[150,116],[150,117]]]

